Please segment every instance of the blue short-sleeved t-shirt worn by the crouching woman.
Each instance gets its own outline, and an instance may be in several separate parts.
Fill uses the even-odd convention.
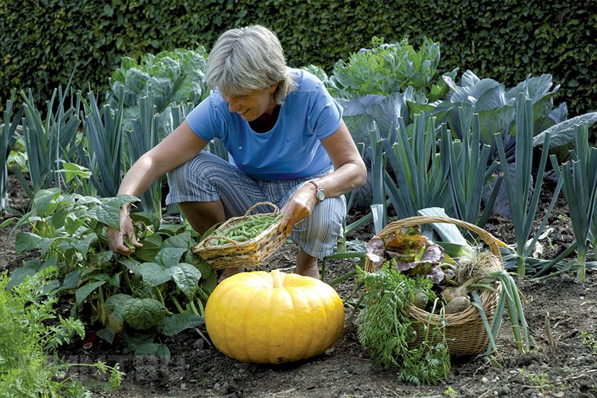
[[[220,138],[236,166],[256,180],[294,180],[330,169],[320,140],[340,127],[342,107],[316,76],[290,71],[298,87],[285,98],[270,131],[256,132],[230,113],[217,89],[186,116],[189,127],[205,141]]]

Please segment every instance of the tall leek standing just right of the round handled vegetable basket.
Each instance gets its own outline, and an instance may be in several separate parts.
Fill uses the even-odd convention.
[[[510,206],[512,222],[514,225],[518,274],[521,277],[524,277],[526,273],[526,259],[531,251],[533,251],[541,232],[543,232],[545,224],[547,223],[547,218],[552,212],[553,206],[558,199],[562,181],[558,181],[553,199],[549,208],[547,208],[543,222],[537,230],[536,235],[533,237],[530,244],[526,245],[526,242],[531,235],[531,230],[533,229],[533,221],[537,212],[541,185],[543,184],[543,172],[547,162],[547,148],[549,148],[549,134],[545,136],[543,143],[544,150],[541,151],[541,159],[537,170],[537,180],[535,182],[533,194],[531,195],[531,198],[529,198],[531,188],[531,168],[533,167],[533,101],[528,99],[525,100],[524,94],[521,92],[518,95],[516,108],[515,180],[512,179],[512,176],[508,171],[506,153],[504,152],[500,133],[497,133],[495,137],[498,155],[500,156],[501,169],[504,172],[508,205]]]

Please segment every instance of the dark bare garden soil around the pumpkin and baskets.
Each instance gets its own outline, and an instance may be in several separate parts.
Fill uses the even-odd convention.
[[[549,187],[543,200],[550,198]],[[13,207],[26,208],[23,198],[11,198]],[[540,216],[540,215],[538,215]],[[553,258],[574,239],[563,199],[554,209],[548,227],[553,227],[544,257]],[[509,220],[492,217],[488,232],[513,243]],[[364,227],[349,239],[368,240],[373,231]],[[18,267],[24,256],[14,252],[14,236],[0,229],[0,268]],[[296,248],[286,245],[262,269],[290,269]],[[350,270],[351,260],[327,263],[325,280]],[[94,390],[97,397],[597,397],[597,273],[587,272],[587,282],[577,283],[573,274],[544,280],[516,279],[526,299],[525,316],[536,347],[520,354],[512,344],[507,320],[497,341],[498,362],[484,356],[454,358],[452,375],[435,386],[396,382],[396,369],[374,366],[358,341],[356,311],[346,307],[344,332],[336,344],[321,356],[304,362],[264,366],[241,363],[221,354],[211,345],[204,326],[184,331],[164,343],[171,351],[168,365],[155,357],[134,359],[122,354],[121,347],[96,340],[91,348],[74,344],[63,350],[69,362],[118,362],[126,372],[115,393]],[[347,298],[355,289],[355,278],[334,286]],[[88,369],[79,377],[87,385],[94,382]]]

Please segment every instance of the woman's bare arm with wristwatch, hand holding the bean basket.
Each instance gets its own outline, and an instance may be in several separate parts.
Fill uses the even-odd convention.
[[[315,181],[325,190],[326,198],[343,195],[365,183],[367,168],[344,121],[330,137],[321,140],[321,144],[334,165],[334,172]],[[286,236],[290,235],[294,224],[309,217],[318,202],[315,193],[315,185],[304,184],[284,205],[280,230]]]

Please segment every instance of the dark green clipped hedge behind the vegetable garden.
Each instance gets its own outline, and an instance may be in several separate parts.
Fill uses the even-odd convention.
[[[595,2],[571,0],[0,0],[0,107],[11,88],[38,100],[66,85],[107,88],[122,56],[211,45],[260,23],[278,33],[292,66],[331,72],[373,36],[441,44],[439,69],[470,69],[508,86],[531,73],[561,84],[573,115],[597,109]]]

